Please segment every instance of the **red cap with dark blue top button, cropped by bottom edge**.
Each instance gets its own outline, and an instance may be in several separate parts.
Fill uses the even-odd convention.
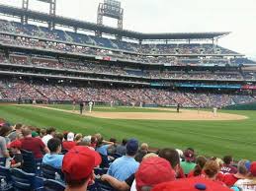
[[[151,191],[232,191],[220,183],[204,177],[183,178],[156,185]]]

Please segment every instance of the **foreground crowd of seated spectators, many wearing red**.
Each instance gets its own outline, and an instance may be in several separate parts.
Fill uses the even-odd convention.
[[[93,190],[96,182],[108,185],[110,191],[256,190],[256,161],[198,156],[193,148],[150,151],[148,144],[134,138],[119,144],[99,133],[57,132],[53,127],[11,126],[2,121],[1,161],[10,160],[7,167],[23,170],[24,151],[58,171],[56,181],[71,191]]]

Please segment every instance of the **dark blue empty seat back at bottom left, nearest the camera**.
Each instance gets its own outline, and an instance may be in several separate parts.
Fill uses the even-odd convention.
[[[35,173],[27,173],[22,169],[11,170],[13,187],[17,191],[36,190],[43,187],[43,178],[37,177]]]

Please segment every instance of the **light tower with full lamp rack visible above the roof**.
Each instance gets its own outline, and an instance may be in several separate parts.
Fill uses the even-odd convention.
[[[103,25],[103,17],[118,20],[118,29],[123,30],[124,9],[121,7],[120,1],[104,0],[104,3],[100,3],[97,14],[97,24],[99,26]],[[96,32],[96,35],[102,36],[102,33]]]

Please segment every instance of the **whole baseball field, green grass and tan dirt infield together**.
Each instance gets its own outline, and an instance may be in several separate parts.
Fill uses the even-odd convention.
[[[256,111],[172,108],[95,107],[83,115],[71,105],[0,105],[0,118],[11,123],[84,135],[101,133],[105,139],[135,137],[151,148],[192,147],[198,155],[255,159]]]

